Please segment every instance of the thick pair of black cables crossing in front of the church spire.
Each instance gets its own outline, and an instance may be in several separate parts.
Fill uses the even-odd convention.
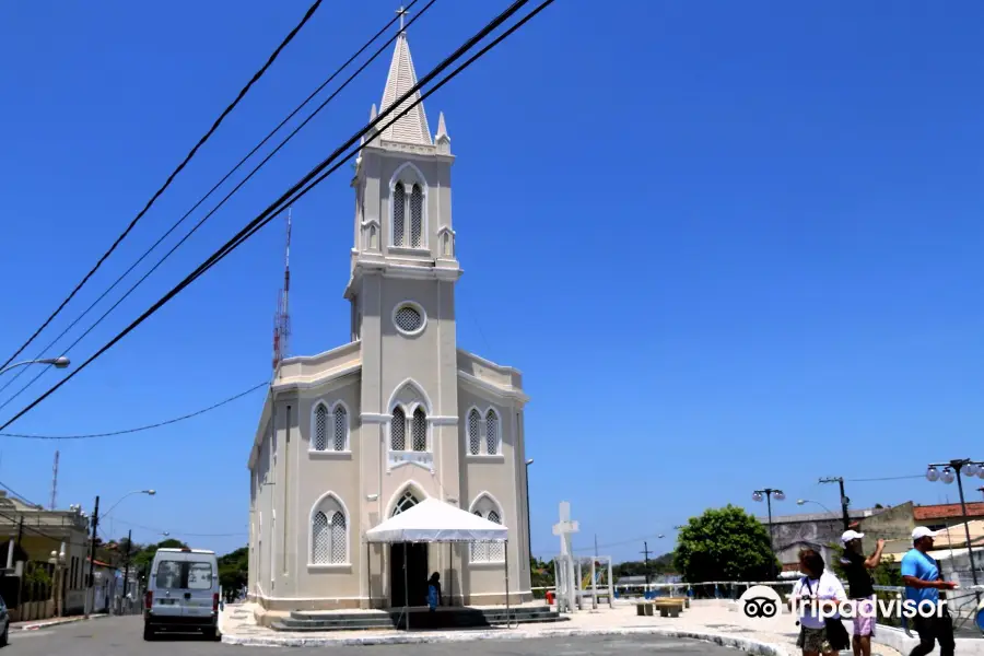
[[[432,89],[430,89],[426,93],[422,94],[415,101],[412,101],[393,121],[387,124],[386,127],[389,127],[399,118],[410,113],[417,105],[422,103],[426,97],[431,94],[440,90],[447,82],[456,78],[461,71],[471,66],[476,60],[480,57],[484,56],[489,50],[497,46],[505,38],[511,36],[516,32],[519,27],[525,25],[529,20],[531,20],[535,15],[541,12],[543,9],[553,3],[554,0],[544,0],[541,2],[534,11],[524,16],[520,21],[514,24],[512,27],[506,30],[503,34],[496,37],[492,43],[483,47],[476,55],[466,60],[462,65],[458,66],[454,71],[448,73],[445,78],[443,78],[440,82],[437,82]],[[71,380],[75,375],[81,373],[86,366],[89,366],[93,361],[99,358],[103,353],[112,349],[124,337],[130,333],[134,328],[137,328],[140,324],[148,319],[151,315],[156,313],[161,307],[167,304],[172,298],[174,298],[177,294],[184,291],[189,284],[195,282],[198,278],[204,274],[209,269],[214,267],[218,262],[224,259],[230,253],[235,250],[238,246],[241,246],[246,239],[256,234],[260,229],[262,229],[267,223],[277,218],[281,212],[283,212],[288,207],[295,203],[298,199],[306,196],[312,189],[314,189],[317,185],[325,180],[329,175],[338,171],[345,162],[354,157],[363,148],[365,148],[365,143],[360,144],[358,148],[349,152],[339,163],[335,166],[328,168],[328,166],[337,160],[344,151],[351,148],[360,138],[364,137],[370,130],[376,127],[382,120],[384,120],[389,114],[399,109],[405,102],[407,102],[413,94],[418,93],[418,91],[424,84],[431,82],[434,78],[436,78],[441,72],[443,72],[446,68],[448,68],[452,63],[454,63],[457,59],[460,59],[461,56],[465,55],[468,50],[470,50],[478,42],[483,39],[489,35],[492,31],[499,27],[502,23],[508,20],[513,14],[515,14],[519,9],[522,9],[525,4],[527,4],[529,0],[516,0],[508,9],[502,12],[499,16],[493,19],[488,25],[485,25],[482,30],[480,30],[476,35],[469,38],[465,44],[462,44],[455,52],[448,56],[443,62],[441,62],[437,67],[435,67],[430,73],[424,75],[424,78],[413,85],[409,91],[407,91],[402,96],[400,96],[396,102],[394,102],[387,109],[382,112],[376,118],[371,120],[362,130],[353,134],[344,144],[339,147],[335,152],[331,153],[326,160],[324,160],[320,164],[315,166],[307,175],[305,175],[301,180],[298,180],[294,186],[288,189],[279,199],[277,199],[273,203],[271,203],[266,210],[263,210],[259,215],[257,215],[253,221],[250,221],[243,230],[241,230],[232,239],[226,242],[219,250],[212,254],[204,262],[202,262],[195,271],[188,274],[180,283],[178,283],[175,288],[173,288],[167,294],[161,297],[154,305],[148,308],[142,315],[140,315],[134,321],[132,321],[127,328],[125,328],[121,332],[119,332],[116,337],[109,340],[106,344],[104,344],[98,351],[96,351],[93,355],[91,355],[85,362],[83,362],[80,366],[74,368],[69,375],[59,380],[57,384],[51,386],[47,391],[37,397],[34,401],[28,403],[26,407],[21,409],[13,418],[8,420],[3,425],[0,425],[0,431],[7,429],[14,421],[30,412],[33,408],[37,407],[38,403],[48,398],[51,394],[54,394],[58,388],[62,385]],[[384,128],[385,130],[385,128]],[[382,130],[380,130],[382,131]],[[328,168],[327,171],[325,171]],[[321,173],[324,171],[324,173]],[[320,174],[320,175],[319,175]],[[317,177],[316,177],[317,176]],[[309,183],[309,184],[308,184]],[[305,186],[306,185],[306,186]]]

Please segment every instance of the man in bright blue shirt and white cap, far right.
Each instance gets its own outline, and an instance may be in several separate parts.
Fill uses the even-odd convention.
[[[905,583],[905,598],[916,604],[932,601],[939,604],[939,590],[951,590],[956,584],[944,581],[939,574],[939,565],[926,552],[933,549],[936,534],[925,526],[917,526],[912,531],[912,549],[902,559],[902,581]],[[939,656],[953,656],[953,621],[946,606],[937,617],[922,617],[917,613],[912,620],[919,634],[917,644],[909,656],[926,656],[939,642]]]

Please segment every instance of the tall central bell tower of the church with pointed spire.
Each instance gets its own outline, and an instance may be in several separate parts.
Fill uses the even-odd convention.
[[[415,84],[401,26],[380,112]],[[352,179],[355,243],[345,297],[351,338],[361,342],[363,426],[379,425],[378,441],[374,431],[363,431],[367,443],[380,445],[385,466],[377,489],[385,499],[395,489],[387,479],[395,485],[412,479],[427,495],[456,501],[455,283],[461,269],[452,223],[454,156],[443,114],[433,137],[422,103],[395,120],[419,99],[417,92],[364,138]],[[375,105],[370,116],[376,118]],[[363,453],[375,460],[371,450]],[[377,462],[364,462],[366,490],[379,476],[373,468],[380,471]]]

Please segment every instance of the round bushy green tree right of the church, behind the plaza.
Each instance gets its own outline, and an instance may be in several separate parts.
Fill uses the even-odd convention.
[[[677,538],[673,565],[688,583],[764,581],[780,571],[769,529],[742,508],[728,504],[692,517]]]

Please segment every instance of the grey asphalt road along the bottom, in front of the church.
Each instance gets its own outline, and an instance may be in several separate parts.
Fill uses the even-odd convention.
[[[11,634],[0,651],[16,656],[271,656],[270,647],[238,647],[206,642],[198,636],[175,636],[143,642],[139,617],[77,622],[42,631]],[[325,655],[324,647],[285,647],[288,656]],[[737,656],[738,652],[698,641],[655,636],[565,637],[480,641],[435,645],[331,647],[332,656]]]

